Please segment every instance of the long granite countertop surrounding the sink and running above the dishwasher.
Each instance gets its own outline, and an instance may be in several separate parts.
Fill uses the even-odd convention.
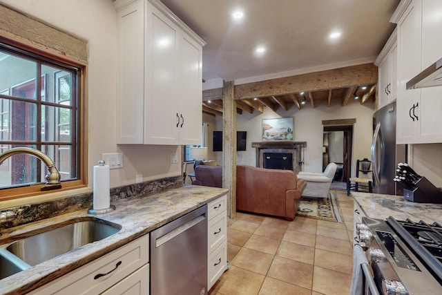
[[[29,231],[42,228],[56,228],[68,224],[73,219],[90,217],[106,220],[122,226],[122,229],[104,240],[81,246],[66,254],[30,267],[0,280],[0,294],[24,294],[51,280],[63,276],[74,269],[107,254],[128,242],[148,234],[153,229],[183,216],[193,209],[203,206],[223,196],[229,190],[215,187],[185,185],[177,189],[166,189],[149,196],[140,196],[113,202],[115,211],[100,215],[90,215],[86,210],[66,213],[28,225],[12,227],[2,231],[0,245],[26,237]]]

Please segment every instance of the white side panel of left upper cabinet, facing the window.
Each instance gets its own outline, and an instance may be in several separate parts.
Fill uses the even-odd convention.
[[[117,144],[142,144],[144,1],[117,12]]]

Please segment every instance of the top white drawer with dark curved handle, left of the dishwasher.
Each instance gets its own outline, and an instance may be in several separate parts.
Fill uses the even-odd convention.
[[[100,294],[148,263],[149,235],[75,269],[31,294]],[[115,269],[115,270],[113,270]],[[94,278],[97,274],[107,274]]]

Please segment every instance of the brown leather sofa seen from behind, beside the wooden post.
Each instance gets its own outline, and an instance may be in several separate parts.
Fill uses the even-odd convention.
[[[236,209],[294,220],[305,180],[289,170],[236,166]]]

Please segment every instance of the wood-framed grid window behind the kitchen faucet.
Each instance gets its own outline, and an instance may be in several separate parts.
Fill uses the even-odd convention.
[[[51,158],[62,187],[81,184],[81,66],[0,43],[0,153],[27,146]],[[0,196],[39,191],[45,164],[18,154],[0,164]]]

